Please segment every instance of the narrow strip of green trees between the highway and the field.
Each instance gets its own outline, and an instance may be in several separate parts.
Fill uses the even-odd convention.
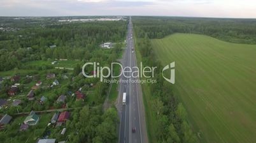
[[[136,33],[138,34],[138,32]],[[148,37],[137,39],[136,47],[141,53],[143,63],[147,66],[162,67],[152,52],[153,49]],[[173,88],[169,82],[162,78],[160,68],[156,69],[154,79],[157,80],[157,84],[148,84],[147,86],[149,86],[151,93],[150,103],[148,103],[152,106],[150,112],[153,113],[153,118],[156,119],[154,135],[157,142],[199,142],[190,125],[188,125],[185,108],[173,94]]]

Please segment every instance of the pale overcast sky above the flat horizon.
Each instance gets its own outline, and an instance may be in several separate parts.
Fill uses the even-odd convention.
[[[73,15],[256,18],[256,0],[0,0],[0,16]]]

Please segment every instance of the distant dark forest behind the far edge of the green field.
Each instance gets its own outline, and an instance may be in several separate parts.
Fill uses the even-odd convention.
[[[255,19],[134,16],[138,37],[160,39],[169,34],[204,34],[228,42],[256,44]],[[139,27],[139,28],[138,28]]]

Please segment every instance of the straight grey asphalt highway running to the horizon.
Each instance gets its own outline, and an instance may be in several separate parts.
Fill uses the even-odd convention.
[[[127,32],[127,48],[124,51],[122,59],[123,67],[137,66],[136,54],[134,49],[134,39],[132,38],[132,21],[129,19]],[[126,75],[131,76],[130,74]],[[147,143],[148,136],[146,132],[145,111],[143,106],[143,94],[139,83],[130,82],[138,78],[126,78],[124,75],[120,77],[119,93],[118,93],[118,112],[120,116],[119,139],[120,143]],[[128,82],[122,82],[127,81]],[[126,104],[122,105],[122,95],[126,92]],[[132,132],[132,128],[136,131]]]

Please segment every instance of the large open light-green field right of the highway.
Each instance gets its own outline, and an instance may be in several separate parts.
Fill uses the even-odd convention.
[[[202,142],[255,142],[255,45],[173,34],[152,46],[163,66],[175,61],[174,94]]]

